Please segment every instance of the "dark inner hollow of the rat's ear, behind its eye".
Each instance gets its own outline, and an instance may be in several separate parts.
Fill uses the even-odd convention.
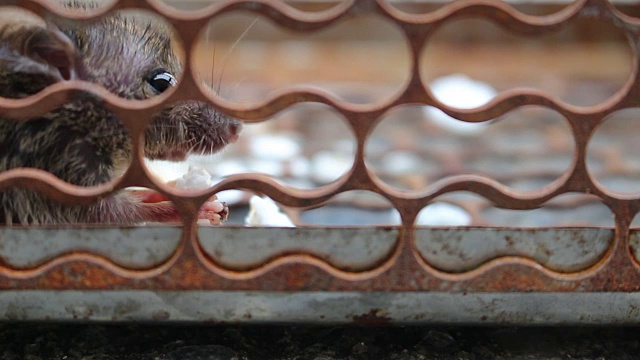
[[[78,50],[73,41],[51,23],[26,39],[23,54],[56,69],[62,79],[78,78]]]

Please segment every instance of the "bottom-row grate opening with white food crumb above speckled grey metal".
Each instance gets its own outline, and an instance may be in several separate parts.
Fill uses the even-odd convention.
[[[400,235],[398,228],[363,225],[388,224],[394,211],[388,201],[365,191],[337,195],[306,211],[252,197],[245,218],[249,227],[204,226],[198,234],[205,253],[234,270],[254,269],[279,256],[312,254],[341,270],[360,271],[384,261]],[[295,229],[291,222],[277,221],[285,213]]]

